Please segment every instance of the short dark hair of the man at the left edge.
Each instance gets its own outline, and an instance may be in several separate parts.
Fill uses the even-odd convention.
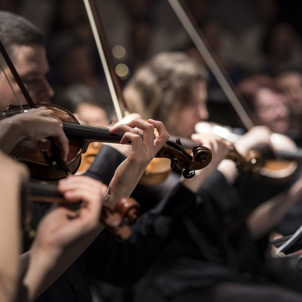
[[[24,17],[0,11],[0,39],[11,59],[14,60],[14,45],[44,45],[43,33]],[[0,62],[4,64],[2,56]]]

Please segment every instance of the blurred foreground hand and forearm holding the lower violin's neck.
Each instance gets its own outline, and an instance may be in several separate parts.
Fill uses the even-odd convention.
[[[100,212],[102,196],[107,190],[105,185],[88,176],[70,176],[59,181],[58,189],[66,204],[54,206],[43,217],[28,252],[30,261],[23,287],[30,301],[48,288],[103,228]],[[71,203],[76,202],[81,202],[78,209],[70,209]]]

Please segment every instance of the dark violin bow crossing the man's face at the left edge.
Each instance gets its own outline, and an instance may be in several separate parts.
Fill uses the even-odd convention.
[[[6,49],[5,49],[5,47],[4,47],[1,40],[0,40],[0,52],[1,52],[2,56],[4,57],[8,67],[10,68],[10,70],[13,74],[13,77],[14,77],[16,83],[18,84],[18,86],[19,86],[26,102],[28,103],[28,105],[31,108],[37,108],[36,105],[34,104],[32,98],[30,97],[26,87],[24,86],[24,84],[23,84],[23,82],[20,78],[20,75],[17,72],[17,70],[16,70],[16,68],[15,68],[15,66],[14,66],[9,54],[7,53],[7,51],[6,51]],[[11,86],[11,88],[12,88],[12,86]],[[14,90],[13,90],[13,92],[14,92]],[[15,92],[14,92],[14,94],[15,94]],[[16,94],[15,94],[15,96],[16,96]],[[18,98],[17,98],[17,101],[19,103]],[[20,104],[20,106],[21,106],[21,104]],[[22,106],[21,106],[21,108],[22,108]],[[22,110],[23,110],[23,108],[22,108]],[[59,173],[59,171],[64,171],[66,175],[70,175],[71,172],[69,171],[69,168],[67,167],[67,164],[64,161],[62,161],[60,156],[59,156],[60,150],[57,147],[57,145],[55,144],[53,137],[50,136],[50,137],[47,137],[47,139],[51,142],[52,156],[49,156],[46,153],[46,151],[43,151],[43,154],[44,154],[46,162],[50,166],[51,171],[53,172],[54,175],[57,175]]]

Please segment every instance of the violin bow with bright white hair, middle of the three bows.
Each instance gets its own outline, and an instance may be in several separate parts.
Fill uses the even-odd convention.
[[[123,114],[119,106],[118,100],[120,100],[121,103],[123,104],[124,114],[126,114],[127,106],[114,69],[114,64],[113,64],[112,56],[109,51],[104,27],[101,22],[101,18],[98,14],[98,8],[95,0],[84,0],[84,4],[92,28],[92,32],[95,38],[95,42],[98,48],[98,52],[103,64],[105,77],[112,97],[113,106],[117,115],[117,119],[120,120],[123,117]]]

